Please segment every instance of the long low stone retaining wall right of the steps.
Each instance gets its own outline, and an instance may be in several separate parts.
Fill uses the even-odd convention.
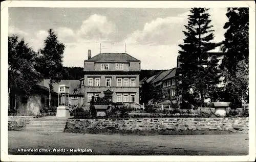
[[[248,118],[69,119],[66,129],[248,130]]]

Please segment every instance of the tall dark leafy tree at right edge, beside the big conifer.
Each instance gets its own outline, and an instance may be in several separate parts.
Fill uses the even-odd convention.
[[[220,67],[225,76],[225,100],[238,107],[241,105],[242,97],[248,98],[249,9],[228,8],[226,16],[226,55]]]

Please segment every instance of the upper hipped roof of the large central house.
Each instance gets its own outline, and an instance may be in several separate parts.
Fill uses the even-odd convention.
[[[139,60],[127,53],[99,53],[98,55],[86,61],[129,62],[129,61],[139,61]]]

